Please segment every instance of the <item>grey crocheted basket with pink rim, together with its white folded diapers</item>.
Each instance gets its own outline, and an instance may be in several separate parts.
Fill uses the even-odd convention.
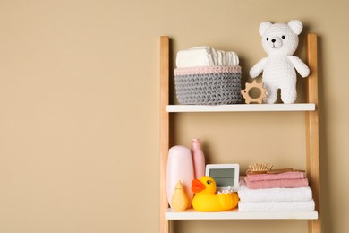
[[[192,47],[177,52],[175,94],[180,104],[219,105],[241,101],[239,57],[233,51]]]

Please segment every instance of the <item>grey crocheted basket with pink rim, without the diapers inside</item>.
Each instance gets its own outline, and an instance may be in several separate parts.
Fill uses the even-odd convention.
[[[205,66],[174,69],[180,104],[222,105],[241,101],[241,67]]]

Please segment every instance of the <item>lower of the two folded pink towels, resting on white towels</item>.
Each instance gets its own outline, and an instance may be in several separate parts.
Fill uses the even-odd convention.
[[[246,186],[248,186],[251,189],[309,186],[307,178],[251,181],[249,177],[244,177],[244,180],[245,180]]]

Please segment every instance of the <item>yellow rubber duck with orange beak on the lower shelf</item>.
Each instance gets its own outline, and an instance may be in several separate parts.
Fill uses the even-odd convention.
[[[192,207],[195,211],[228,211],[239,202],[236,193],[216,194],[217,185],[212,177],[200,177],[192,181]]]

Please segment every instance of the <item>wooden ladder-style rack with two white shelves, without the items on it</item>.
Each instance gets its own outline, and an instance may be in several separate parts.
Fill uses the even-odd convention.
[[[318,109],[318,48],[317,35],[307,36],[307,61],[311,74],[307,77],[306,102],[303,104],[261,104],[191,106],[169,105],[170,39],[160,38],[160,233],[169,232],[170,220],[308,220],[308,232],[320,233],[319,203],[319,109]],[[316,211],[295,212],[175,212],[166,199],[166,164],[169,149],[169,114],[177,112],[260,112],[304,111],[306,122],[306,168]]]

